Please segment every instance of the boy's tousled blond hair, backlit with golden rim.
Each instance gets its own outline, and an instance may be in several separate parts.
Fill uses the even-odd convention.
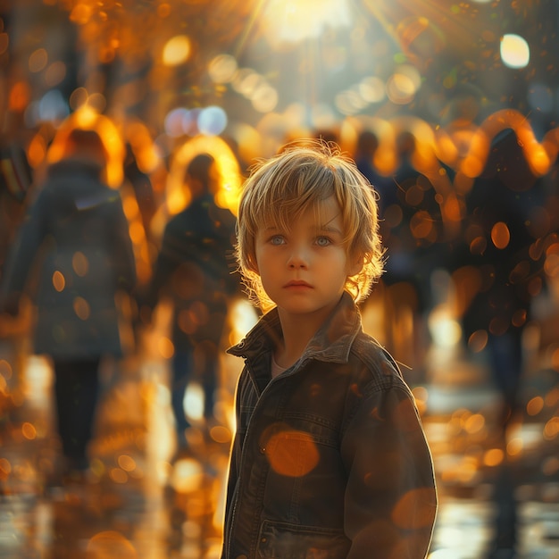
[[[344,226],[343,243],[352,259],[363,258],[363,268],[347,278],[346,291],[355,302],[365,299],[383,271],[377,193],[341,154],[339,147],[321,140],[289,144],[267,161],[251,169],[238,207],[237,259],[251,301],[264,311],[274,303],[263,290],[256,271],[255,238],[270,225],[289,229],[289,224],[308,208],[320,211],[320,203],[335,196]]]

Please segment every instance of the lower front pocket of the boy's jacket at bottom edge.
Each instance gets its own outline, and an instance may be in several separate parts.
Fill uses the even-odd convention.
[[[343,530],[263,521],[257,552],[266,559],[345,559],[349,546]]]

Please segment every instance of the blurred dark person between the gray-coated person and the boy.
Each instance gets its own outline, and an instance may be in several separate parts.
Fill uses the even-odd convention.
[[[217,183],[213,157],[197,154],[184,176],[191,202],[163,231],[154,274],[141,304],[146,319],[163,295],[173,303],[171,407],[177,455],[188,452],[190,422],[184,397],[190,382],[196,380],[204,390],[204,419],[214,419],[221,335],[229,296],[239,287],[238,276],[232,273],[236,219],[215,203]]]

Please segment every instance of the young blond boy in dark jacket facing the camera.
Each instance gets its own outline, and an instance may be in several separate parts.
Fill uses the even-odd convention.
[[[422,559],[437,494],[413,396],[362,330],[380,278],[371,185],[334,146],[247,179],[238,262],[263,317],[237,391],[221,559]]]

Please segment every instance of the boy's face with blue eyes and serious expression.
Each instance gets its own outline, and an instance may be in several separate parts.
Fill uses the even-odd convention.
[[[263,288],[280,313],[325,319],[338,304],[348,276],[361,270],[342,244],[344,227],[333,196],[309,208],[288,230],[261,229],[255,240],[256,267]],[[285,315],[285,314],[284,314]]]

